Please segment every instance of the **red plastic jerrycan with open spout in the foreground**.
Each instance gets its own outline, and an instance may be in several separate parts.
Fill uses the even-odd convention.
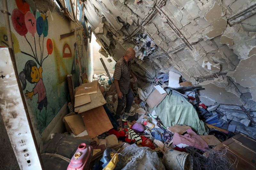
[[[78,149],[73,155],[67,170],[86,170],[89,168],[93,148],[82,143],[78,145]]]

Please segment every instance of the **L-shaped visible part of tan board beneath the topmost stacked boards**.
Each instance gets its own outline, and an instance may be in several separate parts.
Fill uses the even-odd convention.
[[[99,107],[99,106],[102,106],[105,103],[107,103],[106,100],[104,99],[102,93],[100,92],[99,87],[98,87],[97,93],[90,94],[90,98],[91,98],[90,103],[86,103],[84,105],[75,107],[75,112],[82,113],[82,112],[85,112],[87,110],[91,110],[95,107]]]

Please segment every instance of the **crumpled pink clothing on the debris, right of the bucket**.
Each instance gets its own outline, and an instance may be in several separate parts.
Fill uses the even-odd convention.
[[[206,151],[205,148],[208,148],[208,144],[197,135],[191,128],[187,130],[187,134],[184,136],[179,133],[174,133],[172,138],[172,144],[188,144],[197,149],[201,149],[202,151]]]

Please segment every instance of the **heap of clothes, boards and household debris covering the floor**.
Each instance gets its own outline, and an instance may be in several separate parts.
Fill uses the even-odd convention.
[[[70,133],[68,137],[79,142],[72,145],[68,156],[54,153],[55,150],[51,154],[60,154],[66,161],[70,159],[66,167],[80,164],[91,169],[236,169],[245,162],[255,167],[251,157],[236,152],[230,143],[239,145],[237,148],[244,146],[254,154],[255,141],[242,134],[236,135],[236,124],[225,120],[220,105],[205,106],[198,94],[202,88],[181,82],[182,78],[173,73],[158,76],[148,93],[131,83],[132,108],[130,113],[122,112],[120,117],[115,115],[115,85],[111,85],[104,74],[93,75],[95,82],[80,85],[75,92],[75,102],[77,97],[86,95],[91,101],[77,101],[76,113],[63,118],[66,133]],[[100,88],[104,88],[104,92]],[[60,135],[55,135],[49,143]],[[83,152],[80,146],[85,145],[82,139],[87,141],[84,148],[92,147],[86,159],[79,156]],[[245,144],[246,140],[254,143]],[[243,157],[246,160],[242,160]],[[49,161],[43,160],[48,165]]]

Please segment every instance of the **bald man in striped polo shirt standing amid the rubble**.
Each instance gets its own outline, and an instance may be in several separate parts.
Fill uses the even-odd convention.
[[[115,66],[114,72],[114,84],[116,86],[117,96],[118,96],[118,105],[116,108],[116,116],[119,117],[125,105],[126,98],[126,107],[124,109],[125,113],[129,113],[132,107],[133,94],[132,89],[130,88],[130,74],[134,78],[134,81],[137,81],[136,76],[131,70],[131,61],[135,57],[135,51],[132,48],[128,48],[122,58],[120,58]]]

